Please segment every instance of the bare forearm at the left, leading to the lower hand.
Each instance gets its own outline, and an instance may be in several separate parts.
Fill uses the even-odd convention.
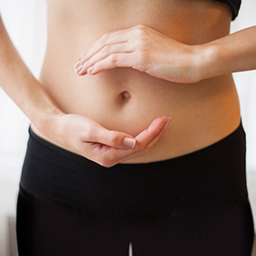
[[[62,114],[61,109],[25,66],[6,33],[1,17],[0,38],[0,86],[37,128],[48,133],[45,127],[54,116]]]

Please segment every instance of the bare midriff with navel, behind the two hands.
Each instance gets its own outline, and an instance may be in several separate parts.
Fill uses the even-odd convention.
[[[182,156],[212,145],[239,126],[232,74],[181,84],[131,68],[85,76],[73,70],[81,53],[104,33],[137,24],[186,44],[223,37],[230,31],[228,5],[212,0],[48,0],[47,6],[48,43],[40,81],[65,113],[81,114],[134,137],[153,119],[172,118],[147,155],[128,163]]]

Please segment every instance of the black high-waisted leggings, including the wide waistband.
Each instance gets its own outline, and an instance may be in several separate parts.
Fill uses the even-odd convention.
[[[165,161],[102,167],[30,130],[17,205],[20,256],[249,256],[242,125]]]

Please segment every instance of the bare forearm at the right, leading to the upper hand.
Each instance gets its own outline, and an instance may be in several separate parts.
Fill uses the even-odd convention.
[[[256,69],[256,26],[194,46],[201,79]]]

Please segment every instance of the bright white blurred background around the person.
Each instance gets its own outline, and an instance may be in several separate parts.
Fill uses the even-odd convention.
[[[0,10],[14,45],[33,75],[38,78],[46,45],[45,1],[0,0]],[[232,22],[232,32],[255,25],[255,14],[256,1],[243,0],[240,14]],[[256,213],[256,71],[235,73],[234,79],[247,134],[249,195],[253,213]],[[6,218],[15,215],[28,126],[29,120],[23,112],[0,89],[0,256],[8,252]]]

